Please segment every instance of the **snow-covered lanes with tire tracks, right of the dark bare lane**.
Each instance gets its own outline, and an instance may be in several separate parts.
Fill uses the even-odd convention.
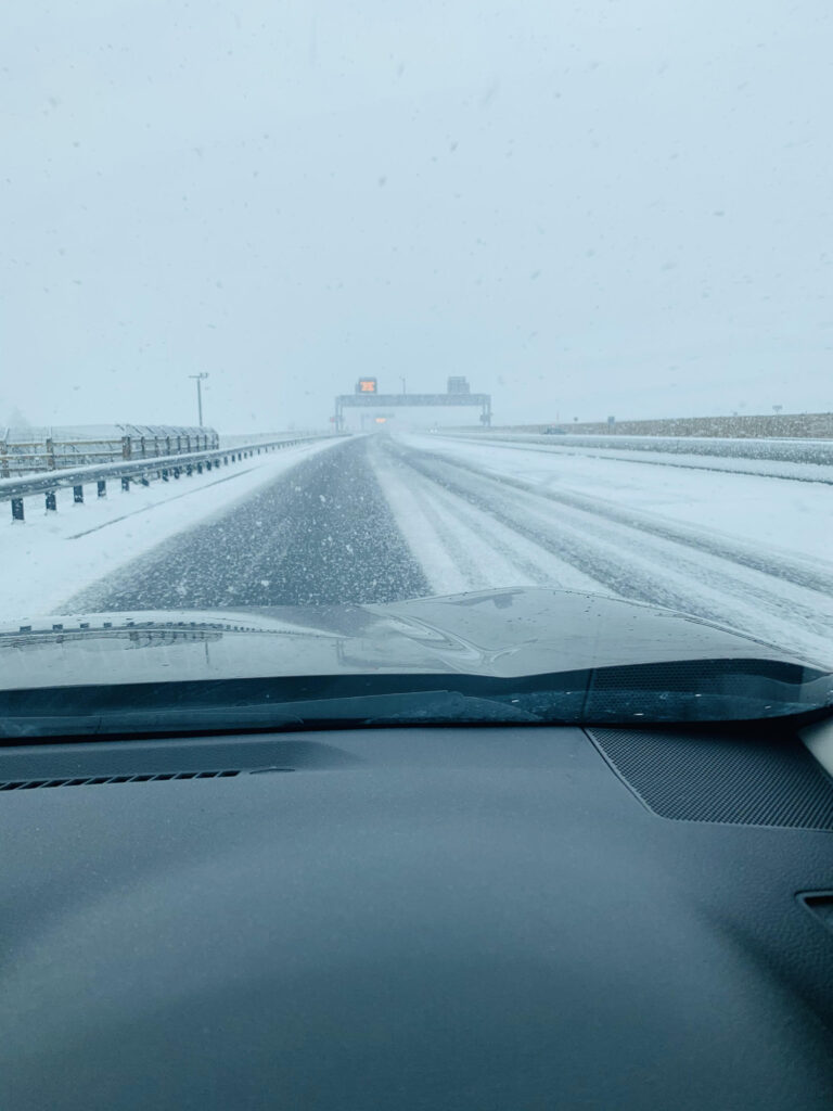
[[[444,437],[379,438],[372,460],[436,592],[591,589],[744,629],[833,664],[825,484]]]

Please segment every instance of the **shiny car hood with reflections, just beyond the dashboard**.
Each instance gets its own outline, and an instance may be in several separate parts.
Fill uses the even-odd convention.
[[[682,660],[811,661],[717,625],[541,588],[385,605],[87,614],[0,625],[0,689],[350,673],[516,678]]]

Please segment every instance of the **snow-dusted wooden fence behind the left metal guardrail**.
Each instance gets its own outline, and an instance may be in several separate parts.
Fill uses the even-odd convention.
[[[0,428],[0,478],[118,460],[187,456],[219,447],[220,437],[213,428],[167,424]]]

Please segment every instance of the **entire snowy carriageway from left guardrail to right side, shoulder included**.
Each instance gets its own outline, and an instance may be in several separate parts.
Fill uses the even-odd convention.
[[[137,532],[151,527],[158,540],[144,534],[139,554]],[[62,589],[52,608],[63,613],[383,602],[534,583],[668,605],[833,668],[825,483],[381,434],[288,452],[148,520],[52,534],[48,558],[36,531],[29,570],[17,562],[30,610],[44,567],[40,590],[57,599]],[[22,540],[10,529],[3,543]]]

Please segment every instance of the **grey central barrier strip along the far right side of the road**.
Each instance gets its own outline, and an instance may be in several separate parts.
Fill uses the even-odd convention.
[[[443,431],[439,433],[448,436]],[[769,459],[790,463],[833,463],[831,440],[730,440],[671,436],[572,436],[528,432],[454,432],[454,439],[478,443],[545,444],[552,449],[593,448],[608,451],[662,451],[671,454],[719,456],[723,459]]]

